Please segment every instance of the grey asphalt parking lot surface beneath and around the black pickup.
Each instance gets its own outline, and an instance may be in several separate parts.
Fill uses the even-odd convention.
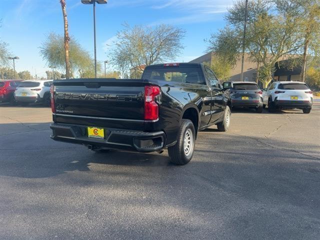
[[[235,110],[184,166],[55,142],[50,121],[0,105],[0,239],[319,239],[320,102]]]

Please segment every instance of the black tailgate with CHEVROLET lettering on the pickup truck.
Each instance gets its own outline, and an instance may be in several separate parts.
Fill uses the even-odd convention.
[[[55,121],[143,129],[145,84],[142,79],[54,80]]]

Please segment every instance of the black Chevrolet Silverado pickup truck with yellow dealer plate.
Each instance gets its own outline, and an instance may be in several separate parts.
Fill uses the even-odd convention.
[[[230,96],[203,64],[147,66],[141,79],[63,79],[51,87],[53,133],[58,141],[109,149],[158,151],[190,161],[197,132],[230,124]]]

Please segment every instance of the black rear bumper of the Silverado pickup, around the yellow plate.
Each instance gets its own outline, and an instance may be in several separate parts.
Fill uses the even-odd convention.
[[[52,123],[53,140],[110,149],[135,150],[140,152],[157,151],[165,146],[166,135],[163,131],[143,132],[118,128],[103,128],[105,137],[87,136],[86,125]]]

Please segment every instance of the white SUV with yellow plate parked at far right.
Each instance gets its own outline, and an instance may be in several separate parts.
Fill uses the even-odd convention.
[[[309,113],[313,95],[308,85],[300,81],[275,81],[263,92],[263,104],[268,111],[276,108],[299,108]]]

